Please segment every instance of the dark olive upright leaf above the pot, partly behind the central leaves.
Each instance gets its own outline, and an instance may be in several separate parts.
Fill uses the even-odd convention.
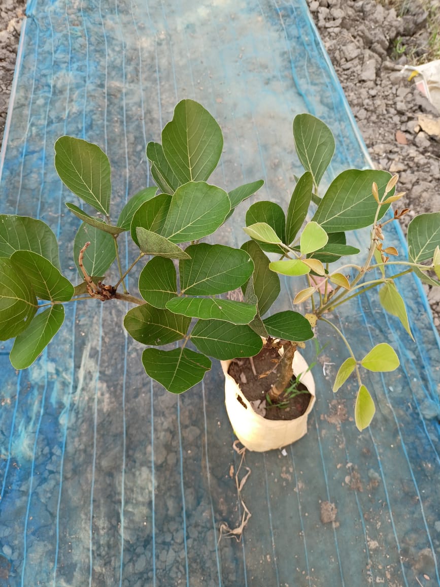
[[[270,271],[269,259],[255,241],[247,241],[241,248],[253,261],[253,292],[258,299],[258,313],[263,316],[279,295],[280,279],[273,271]],[[246,288],[242,289],[246,291]]]

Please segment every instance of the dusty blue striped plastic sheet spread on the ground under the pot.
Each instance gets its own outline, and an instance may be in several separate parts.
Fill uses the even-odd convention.
[[[215,181],[228,189],[263,178],[259,197],[286,203],[300,171],[292,140],[300,112],[334,131],[327,183],[343,168],[370,165],[303,0],[31,0],[0,161],[1,212],[48,222],[75,281],[79,222],[63,204],[75,200],[54,172],[55,140],[71,134],[106,151],[117,218],[148,185],[145,146],[184,97],[221,124]],[[245,209],[222,242],[245,241]],[[389,227],[386,238],[404,252],[400,230]],[[127,266],[132,257],[128,249]],[[241,542],[218,542],[219,524],[232,527],[243,513],[218,363],[181,397],[165,392],[145,375],[117,303],[67,304],[63,329],[23,372],[9,364],[6,343],[1,585],[440,583],[439,340],[418,281],[399,287],[415,343],[374,292],[337,321],[358,356],[387,341],[401,357],[396,372],[367,376],[373,425],[362,434],[354,426],[354,384],[331,392],[347,354],[324,325],[319,342],[330,345],[313,373],[309,433],[285,454],[246,456],[252,474],[242,494],[252,518]],[[286,281],[276,309],[291,300]],[[304,354],[313,360],[312,344]],[[333,522],[323,517],[326,502],[337,510]]]

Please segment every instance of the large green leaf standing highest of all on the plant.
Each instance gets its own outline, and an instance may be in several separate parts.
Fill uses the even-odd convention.
[[[178,180],[206,181],[223,149],[222,131],[201,104],[182,100],[162,131],[165,157]]]

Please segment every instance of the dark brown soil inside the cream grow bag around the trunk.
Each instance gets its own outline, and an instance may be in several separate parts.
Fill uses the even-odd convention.
[[[258,400],[262,402],[261,405],[266,407],[266,413],[264,414],[266,420],[295,420],[295,418],[303,415],[312,399],[307,387],[303,383],[299,383],[298,389],[304,393],[290,397],[287,400],[286,407],[278,407],[276,404],[270,405],[266,402],[266,394],[276,382],[276,372],[269,373],[266,377],[258,377],[259,373],[267,373],[273,369],[275,361],[278,359],[276,349],[263,347],[258,355],[252,357],[256,375],[252,369],[251,359],[248,358],[234,359],[229,365],[228,373],[233,377],[249,402]],[[282,396],[280,399],[285,402],[285,397]]]

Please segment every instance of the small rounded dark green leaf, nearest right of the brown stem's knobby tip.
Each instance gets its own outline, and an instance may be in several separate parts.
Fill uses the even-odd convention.
[[[171,259],[154,257],[139,275],[139,292],[155,308],[165,308],[177,296],[177,276]]]

